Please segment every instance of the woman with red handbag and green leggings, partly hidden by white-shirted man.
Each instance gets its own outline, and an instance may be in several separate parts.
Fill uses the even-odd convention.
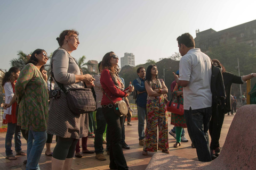
[[[175,97],[173,100],[174,103],[178,103],[179,100],[179,103],[183,105],[183,87],[176,84],[173,90],[173,96]],[[180,146],[182,128],[187,128],[184,115],[171,113],[171,124],[176,127],[176,143],[173,145],[173,147],[177,148]]]

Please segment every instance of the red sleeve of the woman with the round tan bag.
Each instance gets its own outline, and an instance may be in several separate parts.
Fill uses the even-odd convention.
[[[102,71],[101,78],[102,78],[101,83],[105,84],[114,96],[118,96],[118,97],[127,96],[126,92],[117,89],[117,87],[114,84],[114,81],[112,80],[110,72],[107,69]]]

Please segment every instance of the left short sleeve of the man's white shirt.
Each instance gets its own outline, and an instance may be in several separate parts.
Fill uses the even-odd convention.
[[[191,75],[191,69],[192,69],[191,60],[189,60],[188,57],[183,56],[180,59],[179,80],[189,81],[190,75]]]

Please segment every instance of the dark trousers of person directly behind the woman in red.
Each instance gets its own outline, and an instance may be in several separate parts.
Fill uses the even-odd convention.
[[[106,129],[106,120],[102,113],[102,108],[97,109],[96,113],[96,123],[97,129],[95,131],[95,138],[94,138],[94,149],[96,154],[103,154],[103,133]]]

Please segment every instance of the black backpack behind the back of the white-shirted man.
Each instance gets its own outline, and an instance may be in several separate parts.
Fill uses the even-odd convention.
[[[223,82],[221,69],[212,63],[211,76],[211,92],[212,92],[212,108],[216,109],[218,106],[223,113],[227,113],[226,108],[226,92]],[[214,114],[214,113],[213,113]]]

